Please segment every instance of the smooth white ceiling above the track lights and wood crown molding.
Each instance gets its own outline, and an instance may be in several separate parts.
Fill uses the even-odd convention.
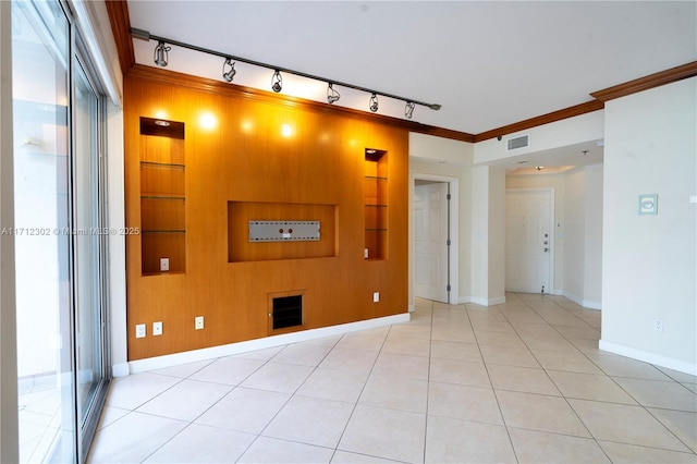
[[[440,103],[413,120],[469,134],[591,101],[589,95],[697,61],[696,1],[130,0],[131,26],[206,49]],[[155,65],[155,41],[134,39]],[[178,47],[168,69],[222,81],[223,60]],[[239,62],[231,85],[270,89]],[[335,106],[370,95],[337,87]],[[326,101],[327,84],[283,75],[282,94]],[[379,114],[404,118],[381,97]]]

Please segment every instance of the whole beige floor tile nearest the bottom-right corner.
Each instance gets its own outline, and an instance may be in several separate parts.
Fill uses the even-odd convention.
[[[644,407],[586,400],[568,402],[597,440],[689,452]]]

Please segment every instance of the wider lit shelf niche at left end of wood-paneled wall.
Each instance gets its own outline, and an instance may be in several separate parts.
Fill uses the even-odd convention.
[[[186,271],[184,123],[140,118],[142,272]],[[169,266],[162,266],[162,259]]]

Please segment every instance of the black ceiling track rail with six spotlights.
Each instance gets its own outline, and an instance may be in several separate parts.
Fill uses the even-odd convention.
[[[201,53],[213,54],[213,56],[217,56],[217,57],[220,57],[220,58],[224,59],[225,60],[225,64],[223,65],[223,71],[225,69],[225,65],[232,65],[232,70],[233,70],[233,72],[231,74],[228,74],[227,76],[223,75],[223,78],[227,82],[231,82],[232,81],[232,76],[234,75],[234,62],[241,61],[243,63],[247,63],[247,64],[252,64],[252,65],[255,65],[255,66],[266,68],[268,70],[272,70],[273,71],[272,89],[273,89],[273,91],[277,91],[277,93],[281,91],[281,88],[282,88],[282,80],[279,81],[280,73],[288,73],[288,74],[293,74],[293,75],[296,75],[296,76],[299,76],[299,77],[310,78],[313,81],[326,82],[327,85],[328,85],[328,88],[331,89],[331,90],[328,90],[328,101],[329,101],[330,105],[333,103],[334,101],[339,100],[340,95],[339,95],[339,93],[337,90],[333,89],[333,86],[338,85],[338,86],[341,86],[341,87],[352,88],[354,90],[365,91],[365,93],[369,94],[370,95],[370,100],[369,100],[370,108],[369,109],[372,112],[376,112],[378,110],[377,96],[381,96],[381,97],[387,97],[387,98],[392,98],[392,99],[395,99],[395,100],[404,101],[406,103],[404,115],[406,118],[408,118],[408,119],[412,119],[412,114],[414,112],[414,106],[415,105],[419,105],[421,107],[426,107],[426,108],[429,108],[429,109],[435,110],[435,111],[438,111],[441,108],[441,106],[438,105],[438,103],[427,103],[427,102],[424,102],[424,101],[414,100],[412,98],[400,97],[399,95],[388,94],[388,93],[384,93],[384,91],[379,91],[379,90],[375,90],[375,89],[371,89],[371,88],[362,87],[359,85],[347,84],[347,83],[341,82],[341,81],[335,81],[335,80],[331,80],[331,78],[327,78],[327,77],[316,76],[316,75],[313,75],[313,74],[304,73],[302,71],[295,71],[295,70],[288,69],[288,68],[283,68],[283,66],[276,66],[273,64],[262,63],[260,61],[249,60],[247,58],[235,57],[234,54],[223,53],[222,51],[217,51],[217,50],[210,50],[208,48],[198,47],[196,45],[182,42],[182,41],[170,39],[170,38],[167,38],[167,37],[155,36],[155,35],[151,35],[148,30],[138,29],[136,27],[131,27],[131,35],[134,38],[140,39],[140,40],[145,40],[145,41],[157,40],[158,46],[155,49],[154,59],[155,59],[156,64],[159,65],[159,66],[167,66],[168,52],[170,50],[170,47],[166,47],[166,44],[168,44],[168,45],[173,45],[173,46],[181,47],[181,48],[186,48],[188,50],[198,51],[198,52],[201,52]]]

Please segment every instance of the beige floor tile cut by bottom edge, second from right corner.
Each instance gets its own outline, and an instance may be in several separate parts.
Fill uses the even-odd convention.
[[[610,463],[596,440],[509,428],[521,464]]]

